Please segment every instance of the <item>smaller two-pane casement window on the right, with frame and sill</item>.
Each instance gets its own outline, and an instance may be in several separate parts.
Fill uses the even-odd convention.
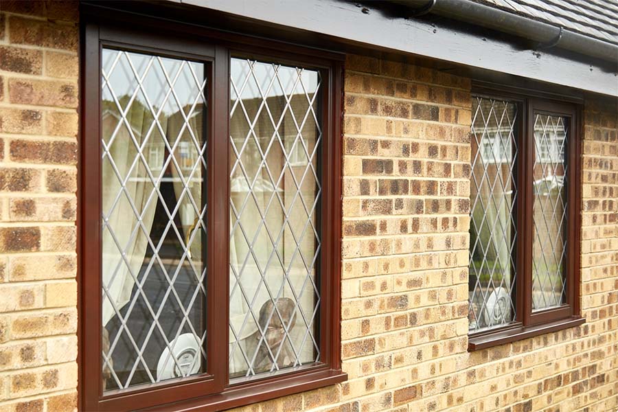
[[[470,349],[582,322],[577,106],[472,99]]]

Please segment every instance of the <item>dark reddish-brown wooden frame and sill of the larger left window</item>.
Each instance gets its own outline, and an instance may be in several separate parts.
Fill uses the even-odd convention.
[[[341,97],[343,57],[183,25],[117,10],[82,8],[82,119],[78,165],[78,279],[80,283],[80,409],[87,411],[222,410],[240,407],[347,379],[341,371]],[[113,22],[113,23],[110,23]],[[320,171],[321,256],[319,346],[321,362],[286,374],[230,384],[227,334],[209,333],[207,373],[111,393],[102,390],[101,360],[101,51],[112,47],[205,63],[207,108],[207,225],[211,238],[229,238],[229,61],[231,56],[266,59],[321,71],[323,92]],[[207,242],[207,330],[226,325],[229,313],[229,242]],[[225,258],[214,258],[225,257]],[[221,335],[220,337],[215,337]]]

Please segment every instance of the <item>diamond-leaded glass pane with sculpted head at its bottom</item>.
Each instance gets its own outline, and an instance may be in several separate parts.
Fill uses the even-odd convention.
[[[319,360],[320,82],[231,60],[231,377]]]

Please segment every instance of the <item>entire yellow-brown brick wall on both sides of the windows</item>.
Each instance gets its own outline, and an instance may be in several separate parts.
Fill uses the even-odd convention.
[[[76,406],[75,3],[0,3],[0,411]],[[586,324],[472,354],[470,80],[350,56],[343,321],[350,380],[247,411],[615,411],[618,115],[586,101]]]

